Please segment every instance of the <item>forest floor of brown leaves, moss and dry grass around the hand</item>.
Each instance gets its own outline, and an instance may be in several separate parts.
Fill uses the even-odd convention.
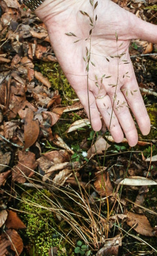
[[[157,24],[157,0],[116,3]],[[157,255],[157,44],[130,44],[151,120],[131,148],[92,130],[22,1],[0,32],[0,256]]]

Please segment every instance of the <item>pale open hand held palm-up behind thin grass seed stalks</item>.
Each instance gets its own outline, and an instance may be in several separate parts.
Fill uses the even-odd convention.
[[[94,18],[94,24],[97,14],[91,37],[90,19],[80,11]],[[150,131],[150,119],[128,47],[130,39],[137,38],[157,43],[157,26],[144,22],[110,0],[98,0],[94,12],[89,0],[45,0],[35,13],[46,24],[58,62],[79,96],[94,131],[101,129],[102,117],[115,142],[121,142],[125,135],[130,146],[135,146],[138,135],[130,110],[143,135]],[[65,34],[69,32],[77,37]],[[74,43],[77,39],[81,40]],[[89,72],[84,61],[86,48],[95,65],[90,62]],[[122,53],[125,54],[118,58],[117,54]],[[103,77],[102,81],[104,74],[111,77]]]

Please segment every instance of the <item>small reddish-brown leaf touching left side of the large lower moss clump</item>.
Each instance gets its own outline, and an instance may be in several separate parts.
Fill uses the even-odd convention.
[[[17,213],[11,210],[8,210],[8,217],[5,225],[7,228],[20,229],[26,228],[26,225],[20,220]]]

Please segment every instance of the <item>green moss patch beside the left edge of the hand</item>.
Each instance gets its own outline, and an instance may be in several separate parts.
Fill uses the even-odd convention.
[[[37,64],[37,68],[42,72],[43,75],[48,77],[48,80],[52,84],[54,90],[60,91],[61,104],[71,105],[73,104],[74,98],[77,98],[75,91],[67,81],[67,78],[63,74],[58,62],[41,62]]]

